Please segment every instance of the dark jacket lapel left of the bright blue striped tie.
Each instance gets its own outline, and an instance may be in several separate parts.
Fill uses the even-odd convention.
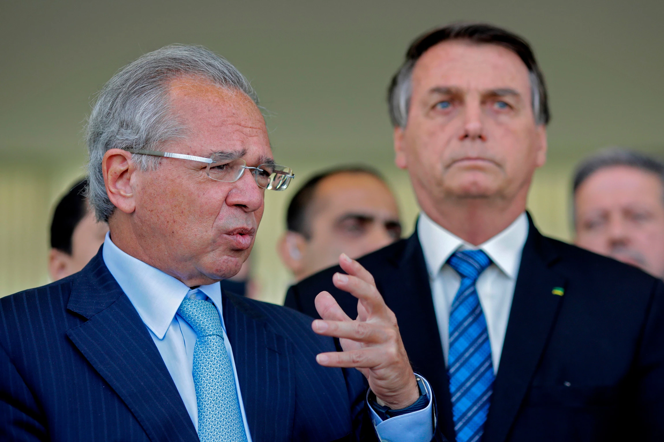
[[[378,291],[384,294],[385,302],[396,314],[398,322],[409,325],[400,327],[399,331],[413,370],[426,374],[436,392],[442,429],[446,434],[453,434],[450,381],[417,230],[408,238],[402,252],[388,261],[396,267],[396,271],[385,272],[387,278],[384,281],[387,284],[383,283],[384,286],[378,287]]]

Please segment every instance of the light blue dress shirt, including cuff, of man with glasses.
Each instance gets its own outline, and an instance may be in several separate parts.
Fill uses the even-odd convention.
[[[152,340],[157,345],[159,354],[185,403],[191,421],[198,430],[198,407],[192,375],[196,332],[187,321],[177,314],[177,309],[185,296],[193,296],[197,299],[207,297],[212,301],[219,312],[219,319],[224,333],[224,344],[235,374],[237,372],[235,359],[228,342],[228,336],[226,336],[226,326],[222,314],[220,284],[216,282],[191,290],[173,276],[165,274],[161,270],[149,266],[118,249],[111,241],[109,233],[106,233],[102,257],[106,267],[108,267],[122,291],[125,292],[127,298],[135,307],[143,323],[145,323],[145,327],[147,327]],[[373,408],[369,407],[376,433],[381,440],[426,442],[433,437],[432,392],[428,382],[424,378],[422,379],[429,397],[429,404],[426,408],[382,421]],[[244,431],[246,431],[247,441],[251,442],[237,376],[235,376],[235,388],[238,392]],[[249,399],[260,400],[260,398]]]

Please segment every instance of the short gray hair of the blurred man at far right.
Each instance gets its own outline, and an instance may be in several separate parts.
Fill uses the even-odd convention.
[[[572,180],[572,227],[576,221],[576,191],[592,174],[608,167],[627,166],[655,174],[664,190],[664,164],[655,158],[621,147],[608,147],[583,160],[574,171]],[[664,201],[663,201],[664,203]]]

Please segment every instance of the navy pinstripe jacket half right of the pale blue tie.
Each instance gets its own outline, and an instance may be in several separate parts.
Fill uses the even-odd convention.
[[[376,439],[364,412],[364,376],[355,369],[333,370],[315,362],[317,353],[335,347],[311,331],[311,318],[232,294],[224,294],[222,302],[254,441]],[[265,363],[272,368],[261,370]],[[272,398],[270,410],[280,410],[280,415],[266,413],[264,397]],[[291,439],[276,436],[287,433]]]

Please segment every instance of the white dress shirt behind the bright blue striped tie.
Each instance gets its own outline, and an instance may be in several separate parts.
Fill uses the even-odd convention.
[[[429,274],[446,364],[450,349],[450,308],[461,285],[461,277],[447,264],[447,260],[457,250],[482,250],[491,258],[491,265],[479,275],[475,287],[487,321],[493,372],[497,373],[514,286],[521,265],[521,253],[528,237],[528,217],[525,212],[521,213],[507,229],[479,246],[466,243],[443,229],[425,213],[420,213],[417,231]]]

